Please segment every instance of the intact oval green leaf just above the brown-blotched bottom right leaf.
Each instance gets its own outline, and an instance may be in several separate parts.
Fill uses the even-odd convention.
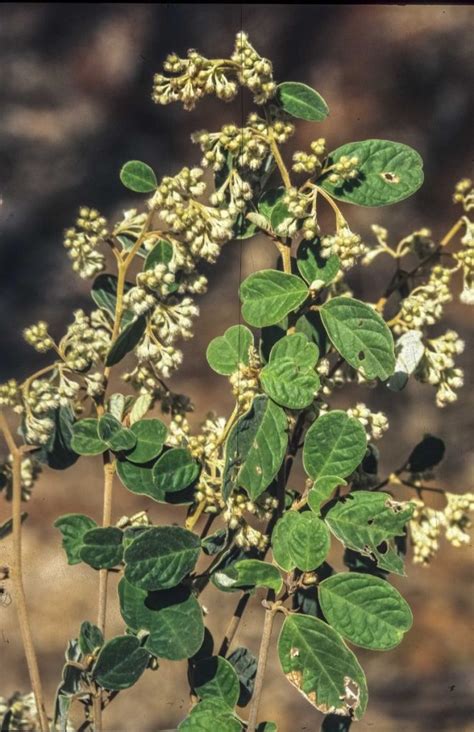
[[[394,648],[411,628],[410,606],[386,580],[341,572],[321,582],[318,593],[328,623],[362,648]]]

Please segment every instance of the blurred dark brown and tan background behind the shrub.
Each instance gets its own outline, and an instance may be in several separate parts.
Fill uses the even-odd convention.
[[[62,247],[62,232],[79,205],[97,207],[113,219],[140,205],[118,178],[126,160],[144,160],[159,176],[174,174],[199,161],[190,142],[193,130],[240,122],[240,99],[224,105],[209,98],[185,113],[180,105],[154,105],[150,95],[153,73],[167,53],[198,48],[207,56],[227,56],[241,28],[261,55],[273,60],[277,80],[306,82],[329,104],[330,117],[317,129],[313,123],[298,124],[288,151],[305,149],[319,136],[327,138],[329,149],[380,137],[405,142],[422,154],[423,188],[387,209],[347,207],[353,230],[370,237],[370,224],[381,224],[393,244],[421,226],[437,238],[450,228],[458,215],[452,189],[473,172],[474,15],[469,7],[5,3],[0,10],[0,381],[24,377],[44,363],[22,341],[22,328],[41,318],[60,335],[74,308],[89,307],[88,284],[71,273]],[[273,251],[256,238],[227,245],[209,272],[202,318],[173,380],[176,391],[193,398],[193,424],[210,409],[229,413],[227,382],[211,374],[205,349],[210,338],[238,322],[239,279],[272,261]],[[375,272],[367,277],[354,271],[358,296],[375,300],[381,294],[386,263]],[[469,340],[472,312],[451,304],[446,327]],[[382,474],[400,465],[429,431],[447,446],[439,484],[453,492],[469,489],[474,467],[469,361],[466,352],[461,358],[466,385],[459,401],[445,410],[435,408],[430,387],[416,383],[396,398],[383,387],[338,396],[340,406],[363,400],[389,416],[391,430],[379,443]],[[29,504],[25,531],[27,592],[50,705],[67,640],[81,620],[94,620],[96,614],[97,578],[80,565],[67,568],[52,522],[66,512],[100,515],[100,462],[81,460],[68,476],[65,481],[61,474],[44,474]],[[146,503],[120,485],[114,501],[117,519]],[[0,519],[8,510],[0,505]],[[181,519],[156,504],[150,514],[157,522]],[[1,551],[0,563],[8,564],[8,545],[2,544]],[[395,584],[414,609],[414,628],[387,655],[357,651],[371,693],[357,729],[474,730],[471,547],[443,544],[430,568],[408,563],[408,577]],[[215,600],[206,590],[208,624],[219,642],[235,597],[220,598],[217,611]],[[255,652],[260,600],[257,595],[252,601],[237,638],[238,645],[248,644]],[[120,628],[114,609],[109,633]],[[0,607],[0,658],[0,694],[29,690],[13,605]],[[117,697],[105,714],[105,729],[157,732],[176,726],[189,704],[185,676],[184,663],[165,662],[156,673],[148,672],[136,688]],[[319,728],[320,715],[288,685],[275,655],[261,714],[278,720],[282,732]]]

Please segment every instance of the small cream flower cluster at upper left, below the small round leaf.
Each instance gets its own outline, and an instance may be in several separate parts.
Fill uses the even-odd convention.
[[[74,272],[87,279],[102,272],[105,267],[105,257],[97,247],[109,235],[107,221],[96,209],[83,206],[79,210],[76,227],[65,232],[64,246],[72,260]]]

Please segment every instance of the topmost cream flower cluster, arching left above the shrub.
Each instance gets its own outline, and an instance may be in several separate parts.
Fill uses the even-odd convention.
[[[250,89],[256,104],[268,101],[276,91],[271,62],[257,53],[243,32],[237,34],[230,59],[207,59],[191,49],[187,58],[170,54],[163,68],[170,75],[155,74],[152,99],[157,104],[180,101],[185,109],[193,109],[206,94],[229,102],[238,83]]]

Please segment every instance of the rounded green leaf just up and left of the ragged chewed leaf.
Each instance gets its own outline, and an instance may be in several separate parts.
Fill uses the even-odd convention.
[[[318,417],[306,433],[304,469],[313,480],[343,479],[360,464],[366,448],[367,438],[359,420],[334,409]],[[344,480],[339,485],[344,485]]]

